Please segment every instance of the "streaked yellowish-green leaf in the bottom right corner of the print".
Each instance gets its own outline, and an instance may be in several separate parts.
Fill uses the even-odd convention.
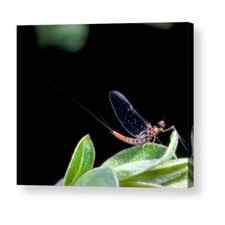
[[[192,162],[188,158],[165,161],[151,170],[120,182],[122,187],[182,187],[192,185]]]

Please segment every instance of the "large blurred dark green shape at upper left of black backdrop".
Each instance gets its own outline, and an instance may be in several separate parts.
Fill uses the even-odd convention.
[[[56,47],[68,52],[77,52],[87,41],[88,25],[38,25],[37,42],[42,48]]]

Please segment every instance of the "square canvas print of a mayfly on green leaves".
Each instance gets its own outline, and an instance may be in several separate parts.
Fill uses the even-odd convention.
[[[17,184],[189,188],[193,24],[17,26]]]

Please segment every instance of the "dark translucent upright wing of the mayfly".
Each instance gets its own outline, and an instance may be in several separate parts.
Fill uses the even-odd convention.
[[[151,124],[133,108],[123,94],[118,91],[111,91],[109,92],[109,99],[118,120],[129,134],[137,137],[142,131],[151,127]]]

